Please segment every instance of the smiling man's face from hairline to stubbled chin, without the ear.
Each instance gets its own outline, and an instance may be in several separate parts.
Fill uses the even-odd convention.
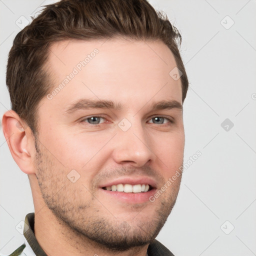
[[[36,176],[66,227],[127,249],[155,238],[175,203],[181,175],[161,187],[183,162],[181,81],[162,42],[104,41],[51,46],[55,92],[39,103]]]

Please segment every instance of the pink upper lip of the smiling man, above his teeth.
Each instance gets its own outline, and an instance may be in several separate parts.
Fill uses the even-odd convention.
[[[111,185],[117,185],[117,184],[148,184],[151,187],[156,187],[156,182],[152,178],[149,178],[147,176],[139,176],[139,177],[118,177],[109,181],[105,181],[104,183],[100,184],[99,187],[105,187],[105,186],[111,186]]]

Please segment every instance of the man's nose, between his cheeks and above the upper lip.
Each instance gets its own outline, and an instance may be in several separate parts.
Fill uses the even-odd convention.
[[[114,140],[112,157],[116,163],[140,167],[156,157],[150,148],[150,138],[141,124],[133,124],[126,131],[117,127]]]

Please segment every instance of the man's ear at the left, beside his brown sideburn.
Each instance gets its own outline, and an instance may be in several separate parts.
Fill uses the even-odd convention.
[[[35,147],[30,127],[15,111],[9,110],[3,114],[2,129],[10,153],[19,168],[26,174],[35,173]]]

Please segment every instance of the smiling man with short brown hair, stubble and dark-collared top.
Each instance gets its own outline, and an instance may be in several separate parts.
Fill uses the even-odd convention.
[[[155,237],[183,163],[178,39],[146,0],[62,0],[16,35],[2,124],[35,212],[11,255],[173,255]]]

